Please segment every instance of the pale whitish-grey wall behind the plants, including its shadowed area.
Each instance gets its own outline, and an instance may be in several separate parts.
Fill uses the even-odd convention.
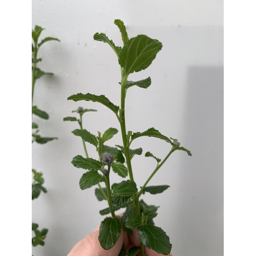
[[[95,32],[104,32],[121,45],[116,18],[124,21],[130,38],[146,34],[163,44],[150,68],[129,77],[151,76],[152,85],[127,92],[127,130],[142,132],[154,126],[193,154],[175,152],[149,183],[170,187],[143,199],[161,206],[155,223],[170,237],[174,255],[223,255],[223,2],[217,0],[32,2],[32,27],[46,28],[42,38],[61,40],[48,42],[39,52],[43,60],[38,67],[55,76],[36,83],[34,104],[50,119],[34,121],[41,135],[58,140],[32,145],[32,167],[44,173],[48,189],[32,202],[32,221],[49,228],[46,245],[32,252],[66,255],[103,220],[98,211],[106,203],[97,201],[94,188],[79,188],[84,172],[71,164],[74,156],[84,154],[80,138],[71,133],[78,124],[62,120],[81,105],[98,110],[84,114],[84,127],[90,132],[120,130],[115,115],[104,106],[67,100],[90,92],[120,105],[116,56],[108,45],[93,40]],[[109,145],[120,143],[118,133]],[[167,143],[155,138],[138,139],[133,147],[161,159],[169,151]],[[90,157],[97,158],[93,146],[88,149]],[[138,187],[154,166],[144,154],[134,157]],[[112,182],[120,180],[112,175]]]

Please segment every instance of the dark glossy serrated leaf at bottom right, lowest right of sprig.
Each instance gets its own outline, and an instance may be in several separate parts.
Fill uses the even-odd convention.
[[[160,254],[167,255],[170,253],[172,244],[170,244],[169,237],[160,227],[145,224],[138,227],[138,234],[141,243],[146,247]]]

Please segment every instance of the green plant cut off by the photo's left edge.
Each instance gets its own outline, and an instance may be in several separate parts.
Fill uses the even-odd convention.
[[[33,40],[32,42],[32,119],[33,119],[33,114],[42,119],[49,119],[49,115],[45,111],[42,111],[38,109],[36,105],[33,105],[33,98],[34,98],[36,80],[44,75],[53,75],[53,73],[47,73],[37,68],[37,63],[42,60],[41,58],[37,58],[38,50],[47,41],[51,41],[51,40],[59,41],[59,39],[54,37],[46,37],[38,43],[38,38],[42,30],[44,29],[39,26],[35,26],[34,30],[32,29],[32,40]],[[54,138],[41,137],[38,134],[39,132],[38,125],[35,122],[32,122],[32,130],[35,130],[35,132],[32,132],[32,143],[37,142],[39,144],[45,144],[48,141],[57,139],[55,137]],[[43,191],[44,193],[47,193],[47,189],[44,186],[42,186],[42,184],[44,184],[45,182],[44,178],[42,177],[42,173],[36,172],[35,169],[32,169],[32,173],[34,174],[34,177],[33,177],[34,180],[32,182],[32,200],[33,200],[39,197],[41,191]],[[44,245],[45,242],[43,240],[46,238],[48,229],[44,228],[40,231],[38,229],[38,224],[32,223],[32,231],[34,231],[35,233],[35,237],[32,238],[32,245],[33,246]]]

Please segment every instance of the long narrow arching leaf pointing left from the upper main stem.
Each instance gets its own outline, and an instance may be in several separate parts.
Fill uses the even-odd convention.
[[[106,106],[107,108],[109,108],[110,110],[112,110],[116,115],[119,110],[119,106],[114,105],[104,95],[97,96],[97,95],[93,95],[90,93],[87,93],[87,94],[78,93],[78,94],[68,97],[68,100],[74,100],[74,101],[86,100],[86,101],[99,102],[99,103],[103,104],[104,106]]]

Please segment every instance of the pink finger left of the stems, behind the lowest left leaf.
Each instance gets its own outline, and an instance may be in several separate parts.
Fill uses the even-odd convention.
[[[118,256],[123,244],[123,231],[116,244],[109,250],[104,250],[99,243],[99,229],[88,234],[84,239],[78,242],[68,256]]]

